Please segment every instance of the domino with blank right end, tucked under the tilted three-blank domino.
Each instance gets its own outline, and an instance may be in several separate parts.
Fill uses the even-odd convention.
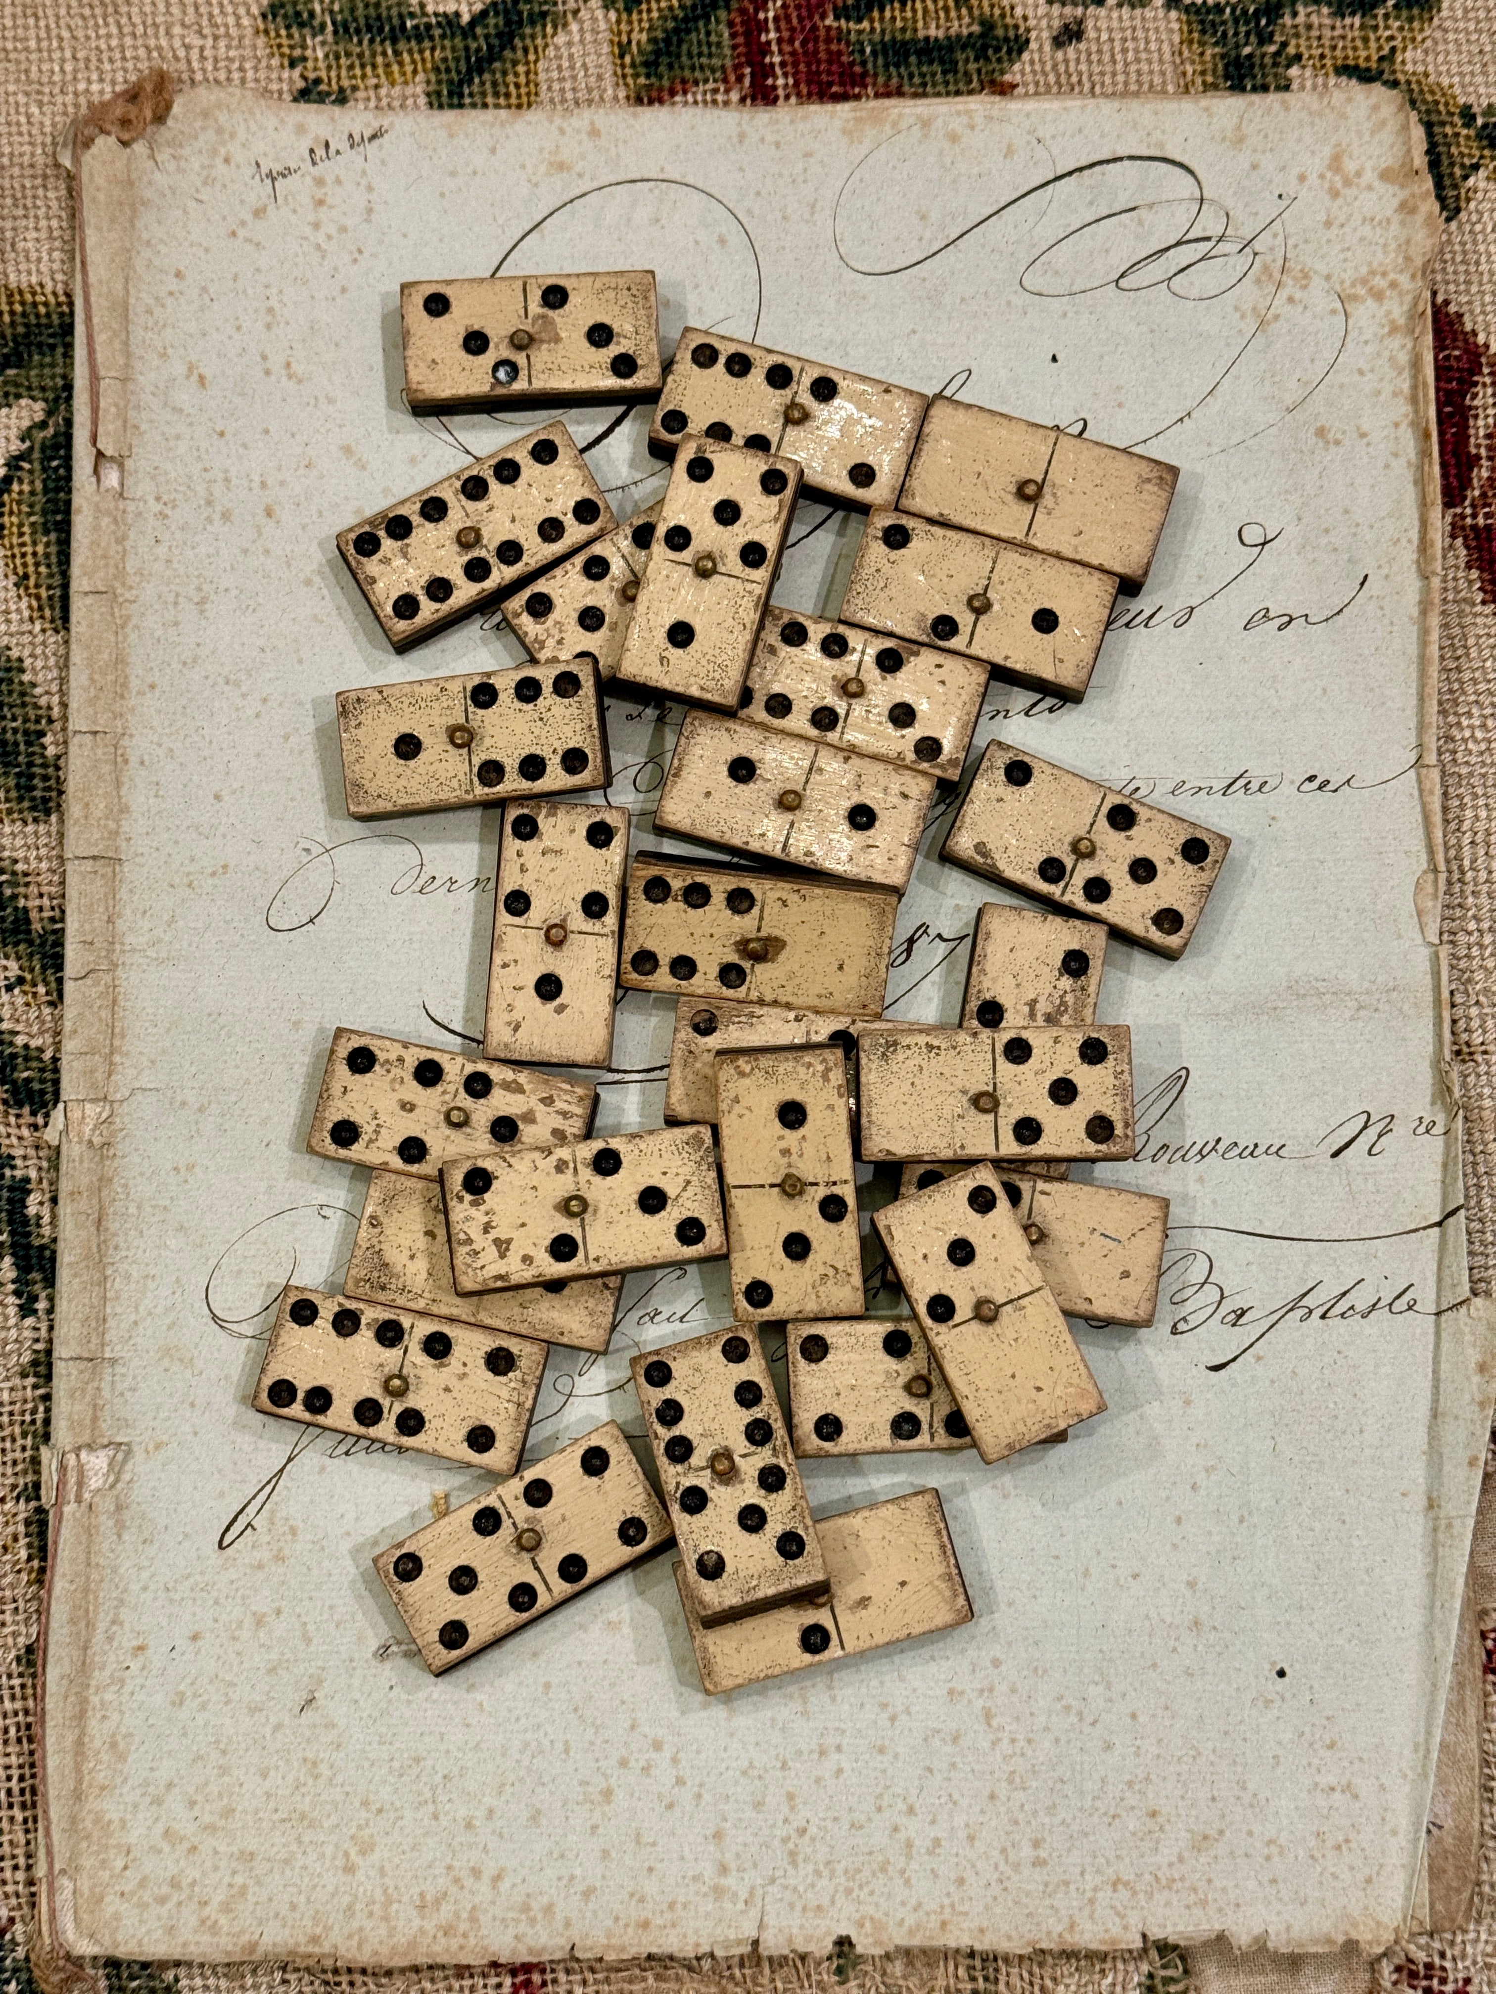
[[[969,1163],[906,1163],[900,1196],[959,1176]],[[1117,1184],[1073,1184],[997,1166],[1033,1264],[1067,1316],[1145,1330],[1159,1306],[1169,1200]]]

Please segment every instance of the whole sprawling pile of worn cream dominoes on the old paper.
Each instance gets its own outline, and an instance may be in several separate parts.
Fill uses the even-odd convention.
[[[1069,1180],[1133,1155],[1107,939],[1181,955],[1229,839],[991,742],[941,857],[1061,911],[981,907],[949,1029],[882,1017],[898,897],[989,674],[1083,698],[1177,473],[690,327],[662,371],[650,271],[401,307],[413,411],[654,401],[674,463],[618,522],[553,421],[337,534],[397,650],[501,604],[533,662],[339,694],[351,816],[507,806],[487,1023],[483,1057],[333,1033],[307,1147],[373,1174],[255,1406],[501,1476],[375,1559],[433,1673],[670,1537],[712,1693],[959,1625],[937,1492],[816,1521],[796,1462],[997,1462],[1105,1410],[1065,1316],[1153,1320],[1169,1210]],[[768,600],[802,493],[868,514],[838,622]],[[626,810],[557,802],[606,792],[608,680],[686,708],[656,826],[756,865],[630,863]],[[598,1139],[541,1069],[608,1065],[618,985],[676,999],[664,1127]],[[910,1316],[864,1314],[858,1161],[904,1166]],[[734,1322],[632,1360],[664,1499],[616,1424],[521,1470],[547,1346],[724,1254]]]

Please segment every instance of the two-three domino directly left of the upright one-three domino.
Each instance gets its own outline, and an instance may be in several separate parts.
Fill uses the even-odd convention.
[[[441,1194],[459,1294],[728,1250],[712,1131],[696,1125],[457,1159]]]

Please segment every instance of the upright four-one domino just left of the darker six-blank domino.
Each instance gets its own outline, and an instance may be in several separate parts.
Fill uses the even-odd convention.
[[[505,812],[485,1053],[606,1067],[626,867],[626,810],[537,804]]]

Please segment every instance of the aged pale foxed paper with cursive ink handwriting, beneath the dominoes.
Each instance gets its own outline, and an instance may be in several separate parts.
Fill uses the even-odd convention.
[[[114,1452],[60,1478],[94,1490],[52,1591],[62,1938],[367,1964],[824,1954],[838,1932],[1386,1944],[1490,1430],[1440,1075],[1434,203],[1404,106],[1346,86],[377,122],[307,167],[375,114],[186,92],[150,144],[84,164],[114,471],[94,481],[80,419],[52,1440]],[[301,171],[271,199],[281,164]],[[499,185],[505,215],[475,219]],[[995,185],[1015,205],[941,249]],[[533,269],[618,243],[656,269],[666,347],[720,323],[922,393],[971,367],[979,405],[1179,463],[1085,702],[993,686],[977,746],[1235,841],[1181,961],[1107,951],[1141,1157],[1097,1176],[1167,1194],[1173,1228],[1151,1330],[1075,1324],[1107,1414],[995,1468],[804,1462],[822,1517],[935,1484],[975,1617],[718,1699],[664,1555],[433,1681],[369,1559],[429,1521],[433,1484],[457,1505],[491,1478],[349,1458],[249,1406],[287,1276],[347,1292],[365,1172],[301,1151],[329,1033],[483,1033],[497,812],[347,820],[333,696],[393,666],[335,532],[459,463],[399,399],[399,281],[493,267],[545,215]],[[1115,281],[1149,255],[1171,281]],[[523,435],[447,421],[489,461]],[[620,510],[666,483],[644,435],[636,411],[586,457]],[[788,548],[778,600],[836,616],[860,530],[838,512]],[[517,658],[469,618],[421,668]],[[674,718],[608,696],[608,802],[644,849]],[[888,971],[894,1017],[953,1023],[975,911],[1009,897],[937,861],[947,822],[890,903],[874,1017]],[[604,1131],[658,1125],[678,995],[704,979],[620,1003]],[[614,1414],[640,1432],[632,1350],[730,1312],[724,1262],[630,1276],[604,1356],[551,1352],[531,1464]],[[515,1731],[533,1749],[495,1751]],[[726,1765],[752,1832],[718,1832]],[[937,1862],[890,1858],[890,1795]]]

